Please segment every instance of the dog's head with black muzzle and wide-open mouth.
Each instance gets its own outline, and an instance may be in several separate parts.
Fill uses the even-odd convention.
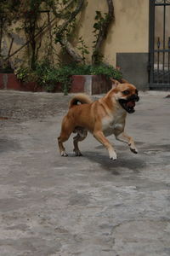
[[[138,90],[133,84],[128,84],[127,81],[123,81],[123,84],[117,80],[111,79],[113,84],[113,91],[116,101],[124,108],[128,113],[133,113],[135,102],[139,102]]]

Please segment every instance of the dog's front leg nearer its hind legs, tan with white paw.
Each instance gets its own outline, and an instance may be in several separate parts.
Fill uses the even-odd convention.
[[[111,146],[111,143],[106,139],[104,133],[102,131],[94,131],[94,137],[102,143],[105,148],[109,151],[110,158],[112,160],[116,160],[116,152],[115,149]]]

